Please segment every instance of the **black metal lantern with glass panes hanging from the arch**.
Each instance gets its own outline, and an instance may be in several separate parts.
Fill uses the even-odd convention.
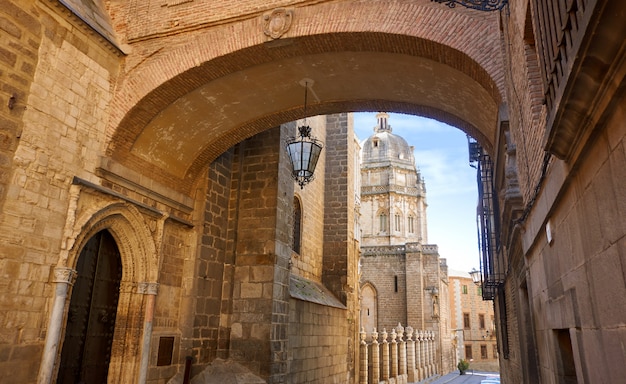
[[[304,79],[300,84],[304,86],[304,115],[306,116],[307,90],[309,88],[310,79]],[[304,188],[313,180],[313,173],[317,160],[324,147],[322,142],[311,137],[311,127],[306,125],[306,117],[304,124],[298,127],[298,137],[293,137],[287,141],[287,153],[291,161],[291,176],[294,178],[300,188]]]

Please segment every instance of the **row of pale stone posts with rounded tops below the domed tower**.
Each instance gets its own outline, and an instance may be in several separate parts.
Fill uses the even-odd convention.
[[[359,384],[407,384],[439,372],[433,331],[417,331],[401,324],[388,333],[361,328]]]

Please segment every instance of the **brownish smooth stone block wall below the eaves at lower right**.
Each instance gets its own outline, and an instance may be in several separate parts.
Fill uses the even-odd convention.
[[[539,234],[529,250],[530,305],[535,317],[539,367],[543,377],[560,376],[558,359],[546,350],[566,353],[564,339],[575,348],[592,382],[619,380],[615,370],[597,369],[596,359],[624,364],[621,342],[626,330],[626,282],[623,274],[626,212],[626,99],[615,100],[606,125],[598,128],[582,164],[548,216],[552,241]],[[582,159],[581,159],[582,160]],[[568,369],[572,369],[569,367]]]

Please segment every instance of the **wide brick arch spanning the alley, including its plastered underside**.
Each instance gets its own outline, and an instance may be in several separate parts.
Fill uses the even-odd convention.
[[[446,17],[446,11],[436,13]],[[186,192],[232,145],[304,117],[303,78],[315,81],[306,115],[422,115],[469,133],[490,150],[502,103],[497,33],[491,42],[476,39],[474,29],[484,32],[493,19],[465,21],[468,27],[449,45],[387,31],[339,31],[239,48],[254,40],[243,34],[222,55],[207,49],[215,28],[196,32],[126,75],[114,102],[107,155]],[[441,29],[432,27],[431,36],[446,40]]]

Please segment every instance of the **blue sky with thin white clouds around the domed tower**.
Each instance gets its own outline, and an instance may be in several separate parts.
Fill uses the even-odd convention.
[[[426,183],[428,243],[439,246],[450,269],[478,269],[476,170],[469,166],[467,136],[419,116],[390,113],[389,124],[415,147],[415,163]],[[372,135],[375,125],[375,112],[354,114],[360,141]]]

